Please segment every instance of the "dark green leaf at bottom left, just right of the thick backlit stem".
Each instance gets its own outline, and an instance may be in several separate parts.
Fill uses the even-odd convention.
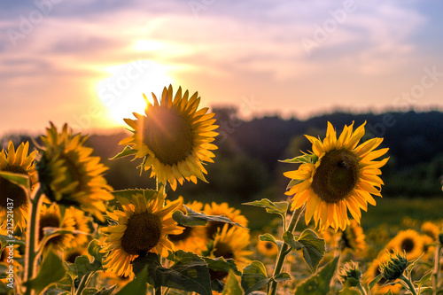
[[[66,274],[66,268],[63,266],[63,260],[60,260],[54,252],[50,251],[43,259],[35,278],[25,282],[27,288],[35,290],[36,294],[40,294],[51,283],[57,283]]]

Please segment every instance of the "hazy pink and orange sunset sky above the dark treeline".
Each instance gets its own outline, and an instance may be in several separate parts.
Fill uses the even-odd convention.
[[[245,118],[443,110],[435,0],[0,0],[0,136],[124,126],[171,84]]]

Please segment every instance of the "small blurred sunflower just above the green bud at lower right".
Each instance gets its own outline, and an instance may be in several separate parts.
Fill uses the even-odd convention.
[[[406,252],[406,258],[415,260],[424,252],[424,239],[414,229],[400,230],[386,245],[388,252]]]

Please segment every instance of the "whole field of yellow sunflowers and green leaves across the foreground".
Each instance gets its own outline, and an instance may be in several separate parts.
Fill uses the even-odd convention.
[[[0,294],[443,294],[443,220],[361,227],[390,159],[366,123],[306,135],[307,151],[281,160],[286,200],[243,203],[268,222],[251,230],[227,202],[167,196],[207,182],[217,160],[219,126],[198,93],[144,98],[113,160],[135,161],[152,187],[114,190],[67,124],[50,123],[35,151],[0,152]]]

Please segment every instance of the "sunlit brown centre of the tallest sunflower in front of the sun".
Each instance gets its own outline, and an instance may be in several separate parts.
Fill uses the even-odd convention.
[[[175,108],[158,107],[144,120],[144,144],[160,162],[174,165],[186,159],[192,151],[192,128]]]

